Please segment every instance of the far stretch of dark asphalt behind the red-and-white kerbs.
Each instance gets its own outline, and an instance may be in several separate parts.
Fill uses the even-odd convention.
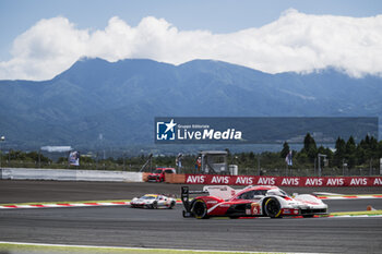
[[[130,199],[146,193],[180,195],[181,184],[0,180],[0,204],[26,202]],[[203,185],[190,185],[202,190]],[[236,186],[239,188],[239,186]],[[382,194],[382,188],[283,188],[287,193]]]

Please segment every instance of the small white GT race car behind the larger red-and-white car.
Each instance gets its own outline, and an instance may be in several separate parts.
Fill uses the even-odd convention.
[[[177,204],[176,199],[160,194],[145,194],[141,197],[134,197],[130,202],[132,208],[169,208],[172,209]]]

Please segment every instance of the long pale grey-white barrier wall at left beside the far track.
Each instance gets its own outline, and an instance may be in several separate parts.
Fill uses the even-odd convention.
[[[140,172],[29,168],[3,168],[0,170],[1,179],[10,180],[143,182]]]

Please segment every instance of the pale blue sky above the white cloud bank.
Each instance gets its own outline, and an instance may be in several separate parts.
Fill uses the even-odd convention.
[[[53,17],[67,19],[75,29],[87,31],[89,35],[96,31],[104,31],[111,17],[118,16],[131,27],[136,27],[144,17],[154,16],[164,19],[179,32],[207,31],[213,35],[235,34],[242,29],[261,28],[277,21],[288,9],[295,9],[306,15],[331,15],[347,17],[372,17],[382,13],[382,1],[380,0],[0,0],[0,62],[1,68],[8,68],[3,73],[14,73],[15,63],[12,59],[19,59],[20,49],[14,49],[14,40],[27,32],[43,19]],[[309,16],[308,16],[309,17]],[[311,17],[311,16],[310,16]],[[301,17],[302,19],[302,17]],[[287,19],[285,19],[287,20]],[[302,21],[302,20],[301,20]],[[357,23],[357,20],[355,20]],[[35,38],[36,39],[36,38]],[[29,41],[31,43],[31,41]],[[32,44],[32,43],[31,43]],[[28,50],[31,49],[28,45]],[[26,46],[19,46],[19,48]],[[14,52],[16,51],[16,53]],[[36,51],[40,53],[40,51]],[[44,55],[44,53],[43,53]],[[87,55],[87,53],[85,53]],[[105,55],[105,53],[104,53]],[[106,55],[105,55],[106,56]],[[124,56],[124,55],[123,55]],[[144,53],[126,55],[134,57],[151,57]],[[200,56],[200,55],[195,55]],[[208,55],[210,56],[210,55]],[[208,57],[206,56],[206,58]],[[211,55],[216,56],[216,55]],[[219,55],[218,55],[219,56]],[[107,57],[106,57],[107,58]],[[153,56],[155,59],[155,56]],[[191,56],[190,56],[191,58]],[[111,60],[112,59],[110,57]],[[222,57],[222,60],[229,60],[229,57]],[[156,60],[164,60],[157,57]],[[24,60],[23,60],[24,61]],[[19,62],[23,62],[20,60]],[[71,62],[73,60],[70,60]],[[168,60],[178,63],[182,60]],[[68,60],[69,62],[69,60]],[[234,59],[235,62],[235,59]],[[7,64],[5,64],[7,63]],[[236,63],[241,63],[239,60]],[[68,64],[67,64],[68,65]],[[246,64],[244,64],[246,65]],[[250,64],[247,64],[251,66]],[[253,64],[261,69],[266,64]],[[313,64],[314,65],[314,64]],[[320,64],[318,64],[320,65]],[[315,68],[315,66],[314,66]],[[297,68],[296,70],[300,70]],[[309,68],[308,68],[309,69]],[[307,70],[308,70],[307,69]],[[310,66],[312,69],[312,66]],[[310,70],[309,69],[309,70]],[[59,69],[58,69],[59,70]],[[283,71],[283,68],[279,68]],[[277,72],[271,70],[271,72]],[[293,70],[294,71],[294,70]],[[34,70],[24,72],[33,73]],[[0,80],[8,74],[0,75]],[[19,74],[9,74],[10,78]],[[29,75],[31,78],[44,78],[47,74]],[[21,76],[23,77],[23,76]],[[27,76],[26,76],[27,77]]]

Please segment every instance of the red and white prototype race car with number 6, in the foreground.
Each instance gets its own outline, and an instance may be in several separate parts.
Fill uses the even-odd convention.
[[[192,201],[190,194],[200,195]],[[183,217],[206,219],[210,217],[271,217],[284,216],[313,217],[325,215],[327,205],[310,194],[296,194],[294,197],[277,186],[247,186],[235,190],[230,186],[204,186],[203,191],[190,191],[181,188]]]

